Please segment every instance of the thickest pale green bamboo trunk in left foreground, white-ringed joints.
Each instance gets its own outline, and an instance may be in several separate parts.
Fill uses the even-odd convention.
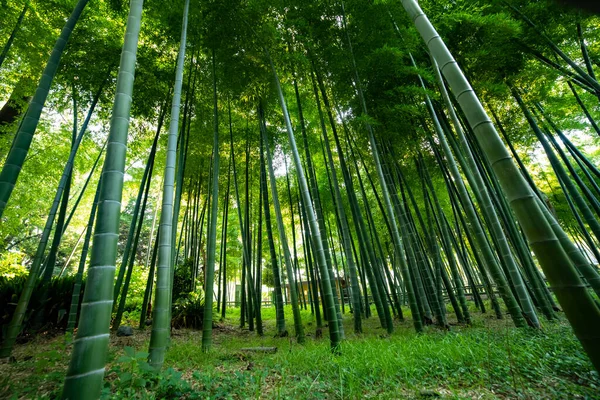
[[[97,398],[102,389],[108,353],[109,324],[113,304],[113,282],[119,232],[119,216],[129,130],[129,112],[135,76],[143,0],[132,0],[121,54],[119,77],[102,186],[98,217],[77,337],[73,342],[63,398]]]

